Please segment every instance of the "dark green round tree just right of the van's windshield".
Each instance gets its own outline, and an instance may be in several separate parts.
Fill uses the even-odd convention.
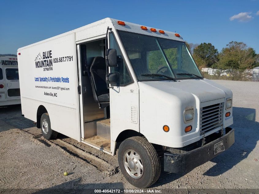
[[[211,43],[201,43],[199,46],[193,49],[193,56],[196,59],[198,66],[212,67],[218,62],[218,49],[216,49]],[[202,62],[199,64],[199,62]]]

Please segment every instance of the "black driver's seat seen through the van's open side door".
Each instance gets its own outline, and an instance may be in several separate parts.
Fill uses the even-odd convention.
[[[109,102],[109,89],[106,86],[106,64],[103,57],[94,57],[90,67],[91,81],[93,83],[93,97],[96,102]],[[94,92],[96,91],[96,95]]]

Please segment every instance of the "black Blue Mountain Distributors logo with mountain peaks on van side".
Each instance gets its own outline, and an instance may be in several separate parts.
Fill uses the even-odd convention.
[[[52,53],[50,51],[44,51],[39,53],[35,58],[35,67],[43,68],[43,71],[53,70]]]

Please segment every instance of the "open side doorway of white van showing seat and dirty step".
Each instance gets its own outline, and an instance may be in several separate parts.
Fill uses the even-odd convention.
[[[105,39],[80,44],[84,134],[82,138],[111,151],[109,88],[105,64]]]

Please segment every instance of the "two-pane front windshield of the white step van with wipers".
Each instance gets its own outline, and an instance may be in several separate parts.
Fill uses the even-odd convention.
[[[162,75],[202,78],[184,42],[122,31],[119,34],[139,81],[168,79]]]

